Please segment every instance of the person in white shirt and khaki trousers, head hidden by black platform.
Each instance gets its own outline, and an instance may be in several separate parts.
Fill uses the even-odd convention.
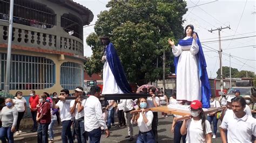
[[[124,99],[124,118],[128,128],[128,135],[125,138],[130,138],[128,141],[133,140],[133,127],[131,123],[132,114],[130,113],[133,110],[133,101],[132,99]]]

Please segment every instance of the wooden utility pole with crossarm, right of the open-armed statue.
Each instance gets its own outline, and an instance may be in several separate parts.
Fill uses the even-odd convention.
[[[220,58],[220,91],[222,92],[223,91],[223,69],[222,69],[222,54],[221,54],[221,52],[222,52],[222,49],[221,49],[221,41],[220,41],[220,31],[221,30],[223,30],[223,29],[225,29],[225,28],[229,28],[229,29],[231,29],[230,28],[230,26],[227,26],[227,27],[220,27],[220,28],[217,28],[217,29],[211,29],[211,30],[208,30],[209,32],[211,32],[212,33],[212,31],[217,31],[218,30],[218,32],[219,32],[219,58]]]

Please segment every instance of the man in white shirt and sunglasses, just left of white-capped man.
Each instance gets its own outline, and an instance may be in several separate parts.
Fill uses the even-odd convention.
[[[62,121],[62,142],[73,143],[72,132],[71,132],[71,114],[70,114],[70,102],[71,100],[66,100],[65,97],[69,96],[68,89],[60,90],[60,95],[58,96],[59,101],[55,104],[52,102],[52,108],[58,109],[60,111],[60,120]],[[54,99],[54,98],[53,98]]]

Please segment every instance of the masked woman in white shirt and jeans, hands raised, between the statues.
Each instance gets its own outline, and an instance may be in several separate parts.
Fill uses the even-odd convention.
[[[131,119],[132,124],[138,124],[139,127],[139,134],[137,138],[137,143],[154,143],[155,137],[152,132],[151,124],[153,120],[153,112],[152,111],[145,111],[147,107],[147,99],[146,98],[139,98],[137,101],[139,105],[138,110],[142,110],[140,113],[136,113],[133,115]]]

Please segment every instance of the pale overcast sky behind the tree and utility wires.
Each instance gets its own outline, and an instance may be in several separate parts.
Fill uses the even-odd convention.
[[[90,9],[94,15],[91,24],[97,21],[100,11],[107,10],[106,0],[74,0]],[[212,33],[208,30],[227,27],[220,32],[221,39],[233,39],[221,41],[223,48],[223,66],[230,66],[240,70],[256,72],[256,1],[254,0],[230,0],[230,1],[203,1],[186,0],[187,13],[183,16],[187,24],[193,24],[198,32],[203,46],[207,71],[209,77],[216,77],[219,69],[218,31]],[[194,7],[193,7],[194,6]],[[254,12],[254,14],[253,14]],[[84,56],[91,56],[92,51],[86,45],[86,37],[94,32],[93,26],[84,28]],[[252,37],[254,36],[254,37]],[[246,38],[248,37],[248,38]],[[209,42],[212,41],[212,42]],[[231,49],[232,48],[232,49]]]

